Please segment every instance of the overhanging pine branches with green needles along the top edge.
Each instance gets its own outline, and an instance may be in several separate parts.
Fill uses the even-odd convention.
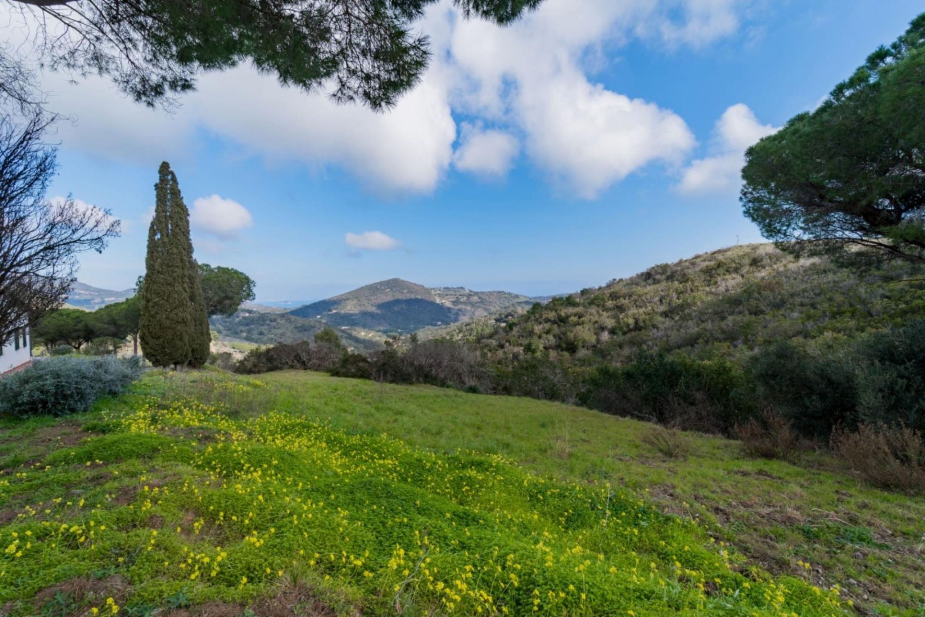
[[[413,21],[436,1],[12,0],[38,13],[36,46],[51,67],[108,75],[147,105],[191,91],[203,70],[250,61],[283,84],[329,87],[338,102],[374,109],[394,105],[424,72],[428,40]],[[506,24],[540,2],[453,4]]]

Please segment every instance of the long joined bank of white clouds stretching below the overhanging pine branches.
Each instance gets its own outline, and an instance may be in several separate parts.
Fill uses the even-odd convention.
[[[64,147],[120,160],[154,166],[195,152],[196,131],[207,130],[266,160],[343,168],[377,191],[428,192],[451,164],[503,175],[520,152],[516,134],[526,160],[594,197],[642,167],[678,164],[695,140],[671,110],[598,84],[588,58],[603,66],[634,38],[708,44],[737,31],[755,1],[546,0],[501,28],[462,19],[444,0],[416,26],[431,36],[431,67],[381,114],[282,87],[247,66],[204,73],[173,116],[134,104],[100,78],[74,85],[50,74],[46,87],[52,106],[77,119],[60,125]],[[463,136],[454,154],[454,114],[494,132]]]

